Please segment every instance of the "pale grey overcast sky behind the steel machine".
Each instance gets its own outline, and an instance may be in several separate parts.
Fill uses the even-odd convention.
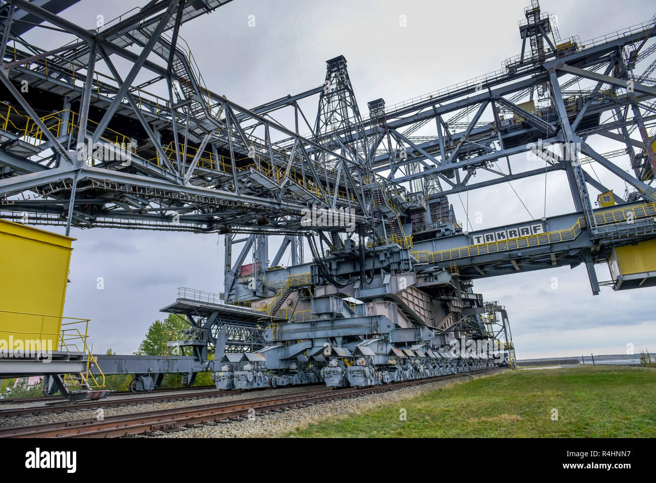
[[[235,0],[184,24],[180,35],[207,87],[246,107],[320,85],[325,60],[343,54],[359,108],[366,112],[367,101],[375,98],[394,104],[501,68],[505,58],[520,53],[518,21],[528,3]],[[558,16],[563,38],[579,35],[581,40],[649,20],[655,10],[651,1],[554,0],[541,5]],[[110,20],[133,6],[124,0],[83,0],[63,15],[92,29],[98,14]],[[251,15],[254,28],[249,27]],[[401,16],[406,27],[400,26]],[[28,35],[43,44],[43,35],[51,35],[43,32]],[[607,143],[590,139],[598,152],[613,149]],[[623,183],[603,171],[596,167],[595,175],[623,194]],[[481,213],[482,225],[475,229],[571,211],[562,173],[548,177],[546,195],[544,183],[541,177],[520,180],[512,188],[495,186],[450,201],[462,222],[465,209],[470,218]],[[223,291],[223,240],[216,234],[94,228],[73,229],[72,236],[77,241],[65,314],[92,319],[96,352],[136,350],[148,326],[165,316],[159,308],[174,301],[176,287]],[[271,259],[275,249],[270,251]],[[605,265],[597,272],[600,280],[609,280]],[[98,277],[104,279],[102,290],[96,288]],[[485,300],[508,309],[519,358],[625,353],[629,343],[636,352],[656,350],[651,308],[656,288],[615,293],[602,287],[601,295],[593,297],[583,266],[486,278],[474,287]]]

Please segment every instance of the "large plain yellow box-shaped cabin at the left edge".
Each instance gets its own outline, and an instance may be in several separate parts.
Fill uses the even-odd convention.
[[[58,350],[73,240],[0,219],[0,340]]]

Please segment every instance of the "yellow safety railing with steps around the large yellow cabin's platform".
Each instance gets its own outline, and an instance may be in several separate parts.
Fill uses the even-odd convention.
[[[55,350],[60,352],[78,352],[80,354],[86,354],[87,364],[83,372],[79,373],[79,379],[74,377],[73,374],[64,374],[64,383],[68,381],[71,386],[81,387],[83,381],[86,381],[90,388],[103,387],[105,385],[105,375],[102,373],[100,366],[98,366],[98,360],[93,356],[92,349],[87,345],[87,339],[89,338],[89,319],[79,319],[74,317],[60,317],[52,316],[45,314],[33,314],[30,312],[14,312],[12,310],[0,310],[0,313],[3,314],[13,314],[13,315],[25,315],[31,317],[41,317],[41,327],[39,331],[28,331],[22,332],[17,331],[15,327],[1,327],[0,331],[7,332],[10,334],[21,334],[24,336],[30,336],[31,340],[45,341],[58,339],[58,347]],[[61,329],[58,333],[44,331],[44,325],[46,324],[47,319],[61,320]],[[70,322],[64,322],[68,320]],[[27,339],[27,337],[25,337]],[[13,348],[12,348],[13,349]],[[11,350],[12,350],[11,349]],[[44,348],[41,348],[41,352],[47,352]],[[91,372],[91,367],[96,366],[98,371],[98,377]]]

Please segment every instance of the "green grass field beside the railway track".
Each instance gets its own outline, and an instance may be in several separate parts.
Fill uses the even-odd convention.
[[[654,437],[656,370],[506,371],[297,428],[297,437]],[[400,410],[407,421],[400,421]],[[552,421],[552,408],[558,421]]]

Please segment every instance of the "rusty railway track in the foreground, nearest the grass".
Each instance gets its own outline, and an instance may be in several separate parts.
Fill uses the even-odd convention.
[[[487,372],[494,369],[487,369]],[[117,438],[134,434],[175,429],[213,421],[239,419],[243,416],[266,413],[268,411],[286,410],[298,406],[319,404],[331,400],[353,398],[377,392],[386,392],[403,387],[424,385],[460,377],[467,373],[458,373],[405,381],[382,386],[344,389],[311,389],[292,394],[274,394],[236,401],[213,404],[201,404],[187,408],[144,411],[129,415],[105,417],[102,421],[94,418],[58,421],[23,427],[0,429],[0,438]]]

